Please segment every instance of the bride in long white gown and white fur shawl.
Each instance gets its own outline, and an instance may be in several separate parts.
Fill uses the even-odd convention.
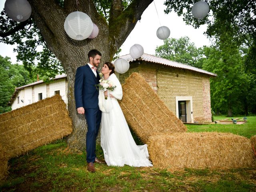
[[[102,111],[101,147],[108,166],[152,166],[147,144],[137,146],[132,138],[118,100],[122,99],[122,86],[114,74],[114,65],[106,62],[102,67],[104,79],[116,86],[114,91],[99,90],[99,107]],[[108,96],[107,99],[104,96]]]

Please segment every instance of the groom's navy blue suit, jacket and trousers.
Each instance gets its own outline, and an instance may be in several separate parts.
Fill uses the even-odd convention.
[[[99,83],[100,76],[98,71],[96,73],[97,77],[88,64],[78,67],[74,85],[76,108],[84,108],[88,126],[86,133],[86,160],[88,163],[95,161],[96,137],[101,121],[101,111],[98,106],[99,92],[95,87]]]

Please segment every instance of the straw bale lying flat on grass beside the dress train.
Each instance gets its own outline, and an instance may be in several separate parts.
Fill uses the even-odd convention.
[[[153,165],[168,167],[248,167],[254,162],[250,140],[231,133],[175,133],[151,136]]]

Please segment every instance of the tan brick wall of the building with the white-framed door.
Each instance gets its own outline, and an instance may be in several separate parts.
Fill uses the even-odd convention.
[[[174,114],[176,114],[177,106],[176,97],[190,97],[192,98],[190,111],[192,122],[211,122],[209,76],[189,70],[141,62],[132,65],[125,74],[120,74],[120,81],[124,82],[124,79],[132,72],[140,73]]]

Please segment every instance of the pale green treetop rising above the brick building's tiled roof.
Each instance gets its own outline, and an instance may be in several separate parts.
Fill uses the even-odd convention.
[[[196,48],[195,44],[190,42],[190,39],[187,36],[179,39],[165,39],[164,44],[157,46],[155,51],[156,56],[202,68],[202,65],[198,63],[200,52],[198,48]]]

